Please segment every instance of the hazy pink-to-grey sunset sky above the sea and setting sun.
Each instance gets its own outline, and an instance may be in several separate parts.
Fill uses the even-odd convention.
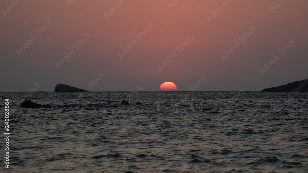
[[[0,91],[261,91],[308,77],[306,0],[71,1],[0,1]]]

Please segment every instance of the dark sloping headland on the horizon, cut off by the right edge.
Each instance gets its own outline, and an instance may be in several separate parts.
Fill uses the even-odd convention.
[[[266,88],[262,92],[308,92],[308,80],[304,79],[279,87]]]

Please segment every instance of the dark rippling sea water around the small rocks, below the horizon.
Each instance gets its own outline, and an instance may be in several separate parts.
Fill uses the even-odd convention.
[[[0,96],[1,105],[10,99],[10,169],[1,118],[3,172],[308,172],[308,93]],[[53,108],[20,108],[29,98]]]

